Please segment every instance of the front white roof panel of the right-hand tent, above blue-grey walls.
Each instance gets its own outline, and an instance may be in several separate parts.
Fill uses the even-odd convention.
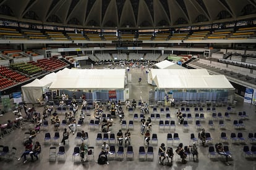
[[[158,89],[234,89],[224,75],[156,75]]]

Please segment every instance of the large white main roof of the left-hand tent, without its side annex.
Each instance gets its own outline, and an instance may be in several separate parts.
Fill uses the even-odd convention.
[[[50,89],[124,89],[124,69],[64,69]]]

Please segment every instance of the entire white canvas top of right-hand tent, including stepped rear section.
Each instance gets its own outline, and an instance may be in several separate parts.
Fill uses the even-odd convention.
[[[152,69],[149,76],[158,89],[234,89],[224,75],[206,69]]]

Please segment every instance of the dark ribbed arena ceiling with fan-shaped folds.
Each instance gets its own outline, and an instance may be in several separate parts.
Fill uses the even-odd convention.
[[[77,28],[170,28],[256,18],[256,0],[0,0],[0,18]]]

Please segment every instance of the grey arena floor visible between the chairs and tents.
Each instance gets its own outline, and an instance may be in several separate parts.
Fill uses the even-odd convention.
[[[143,73],[142,70],[139,68],[132,68],[129,71],[129,74],[131,74],[132,81],[127,84],[127,87],[130,89],[130,99],[136,99],[139,100],[141,97],[143,100],[147,101],[148,100],[148,91],[155,89],[153,86],[149,86],[147,84],[146,80],[146,74]],[[142,84],[139,85],[138,79],[139,77],[142,77]],[[203,127],[206,129],[206,132],[210,132],[211,137],[213,137],[213,145],[219,142],[220,140],[220,134],[221,132],[226,132],[227,136],[229,137],[231,132],[242,132],[244,135],[245,139],[247,139],[248,133],[249,132],[256,132],[256,116],[255,116],[255,107],[243,103],[243,100],[241,97],[236,96],[237,105],[236,107],[233,107],[233,114],[231,115],[231,120],[230,121],[224,121],[226,123],[226,129],[220,130],[218,128],[218,122],[214,121],[215,123],[215,129],[210,130],[208,128],[208,120],[211,119],[211,113],[208,113],[206,117],[206,121],[203,124]],[[124,107],[125,108],[125,107]],[[206,108],[204,108],[206,110]],[[41,111],[43,108],[38,107],[36,108],[36,111]],[[125,109],[124,109],[125,110]],[[160,110],[160,107],[158,107],[158,110]],[[192,115],[194,115],[194,107],[190,108]],[[226,111],[226,107],[216,107],[217,112],[221,112],[224,114]],[[150,113],[152,113],[152,108],[150,108]],[[176,117],[174,113],[176,113],[177,108],[171,108],[171,116],[172,119],[176,121]],[[249,115],[248,120],[244,120],[245,123],[245,129],[243,130],[236,130],[233,127],[233,120],[234,119],[239,119],[237,116],[238,111],[246,111],[246,113]],[[23,110],[22,110],[23,113]],[[139,108],[137,108],[134,113],[140,113]],[[24,113],[23,113],[24,114]],[[79,114],[77,114],[78,118]],[[63,113],[60,115],[61,119],[64,117]],[[146,115],[146,118],[148,115]],[[12,112],[5,114],[4,116],[1,116],[0,118],[0,123],[6,123],[7,119],[14,119],[14,114]],[[93,119],[93,116],[91,116],[91,119]],[[133,115],[129,115],[128,111],[125,111],[125,119],[127,121],[133,119]],[[161,115],[161,119],[166,119],[164,115]],[[15,129],[14,132],[11,132],[11,134],[4,136],[3,139],[0,139],[0,145],[8,145],[9,147],[17,147],[17,153],[15,156],[19,157],[22,155],[24,151],[24,147],[22,145],[23,142],[23,137],[24,133],[27,131],[28,126],[33,126],[32,124],[24,123],[22,129]],[[182,125],[177,124],[176,125],[176,130],[175,132],[179,133],[179,137],[181,139],[181,142],[184,145],[189,145],[189,140],[190,140],[190,133],[198,134],[198,130],[195,129],[195,120],[193,120],[192,123],[189,123],[189,131],[183,131],[182,130]],[[117,131],[121,128],[121,124],[119,123],[119,119],[114,119],[114,126],[112,132],[114,134],[117,133]],[[98,153],[100,153],[100,146],[95,145],[95,138],[96,134],[99,132],[98,130],[89,130],[88,129],[88,121],[87,123],[83,124],[82,129],[84,131],[87,131],[89,134],[90,138],[90,145],[95,146],[95,160],[90,159],[90,161],[85,162],[85,163],[74,163],[72,161],[72,153],[74,151],[75,147],[75,135],[70,134],[69,136],[69,144],[65,146],[66,148],[66,160],[65,161],[53,161],[49,162],[49,147],[50,145],[44,145],[44,137],[45,137],[45,132],[46,131],[41,131],[37,135],[38,141],[41,143],[42,146],[42,153],[40,155],[40,159],[38,161],[35,161],[32,163],[30,161],[30,158],[28,158],[27,163],[23,163],[22,160],[18,161],[17,159],[14,159],[12,161],[7,162],[4,158],[1,158],[1,168],[0,169],[100,169],[100,168],[105,168],[105,169],[255,169],[256,167],[256,159],[247,159],[242,155],[242,148],[244,145],[249,145],[249,147],[252,146],[249,142],[245,142],[245,144],[237,143],[237,144],[231,144],[229,141],[228,147],[229,150],[233,153],[233,156],[229,163],[231,163],[231,166],[226,166],[224,164],[224,159],[219,158],[218,160],[213,160],[210,159],[208,156],[208,147],[202,147],[200,142],[198,143],[198,163],[195,163],[193,160],[189,160],[187,158],[187,163],[182,164],[181,163],[181,158],[174,153],[174,163],[173,166],[163,166],[158,164],[158,146],[161,143],[166,144],[166,136],[168,132],[171,132],[172,134],[174,131],[163,131],[158,128],[158,123],[153,123],[153,130],[152,133],[158,134],[158,145],[154,145],[154,159],[153,161],[139,161],[138,160],[138,152],[139,152],[139,147],[143,146],[143,138],[140,134],[139,131],[139,123],[134,124],[134,131],[131,131],[131,139],[132,139],[132,146],[134,148],[134,160],[129,161],[124,158],[124,160],[109,160],[109,165],[99,165],[95,163],[95,161],[98,158]],[[49,132],[53,136],[54,134],[54,127],[53,125],[50,124],[49,127]],[[123,131],[124,132],[124,131]],[[62,134],[62,130],[60,131],[60,134]],[[210,145],[210,143],[208,143]],[[55,147],[59,147],[58,144],[54,145]],[[174,145],[167,145],[170,147],[173,147],[174,150],[177,147],[177,143]],[[116,149],[117,149],[117,144],[116,144]],[[126,151],[126,148],[125,148]],[[29,156],[28,156],[29,157]]]

